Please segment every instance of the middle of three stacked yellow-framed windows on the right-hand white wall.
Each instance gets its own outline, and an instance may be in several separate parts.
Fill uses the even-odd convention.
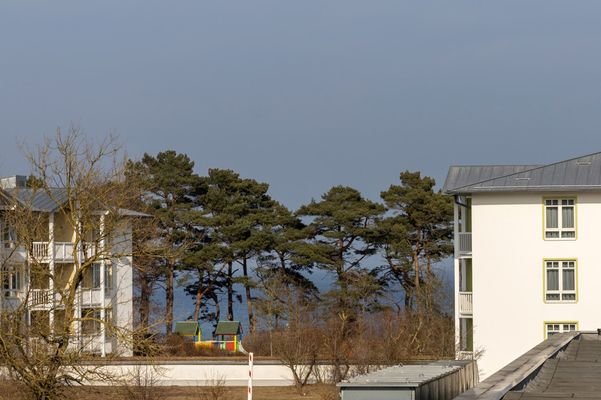
[[[545,301],[576,301],[576,261],[545,261]]]

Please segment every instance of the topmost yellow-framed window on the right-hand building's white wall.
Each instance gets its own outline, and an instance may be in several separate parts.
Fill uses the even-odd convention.
[[[575,205],[575,199],[545,199],[545,239],[576,238]]]

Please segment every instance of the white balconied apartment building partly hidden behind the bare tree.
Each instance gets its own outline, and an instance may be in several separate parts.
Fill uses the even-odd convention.
[[[73,327],[72,343],[83,351],[102,356],[108,353],[131,355],[131,340],[125,343],[119,335],[107,332],[101,321],[110,321],[110,325],[123,328],[125,332],[133,331],[129,217],[143,214],[121,210],[123,223],[119,230],[106,236],[110,239],[94,242],[94,238],[90,238],[87,246],[87,242],[76,241],[73,223],[62,211],[61,206],[67,201],[65,191],[34,191],[25,187],[25,182],[24,176],[0,179],[0,309],[14,310],[27,302],[28,323],[47,323],[49,329],[53,329],[55,321],[64,319],[61,287],[73,279],[77,263],[93,260],[77,287],[75,313],[78,322]],[[8,213],[13,212],[15,203],[30,207],[41,217],[39,237],[28,249],[8,222]],[[98,212],[98,218],[103,218],[103,212]],[[99,246],[108,249],[102,250],[102,256]],[[48,274],[33,273],[34,264],[41,265],[42,271],[47,270]]]

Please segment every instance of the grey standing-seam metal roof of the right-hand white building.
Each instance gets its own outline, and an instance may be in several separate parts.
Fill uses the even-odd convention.
[[[452,166],[443,191],[476,192],[601,190],[601,152],[542,166]]]

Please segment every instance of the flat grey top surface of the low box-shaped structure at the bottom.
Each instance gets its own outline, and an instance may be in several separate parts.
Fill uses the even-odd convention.
[[[339,387],[419,387],[461,369],[469,361],[435,361],[427,364],[396,365],[340,382]]]

